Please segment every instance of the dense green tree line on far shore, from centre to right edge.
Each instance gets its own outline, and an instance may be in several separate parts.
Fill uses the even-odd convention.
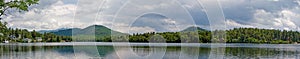
[[[198,42],[212,43],[212,31],[198,30],[191,32],[148,32],[124,35],[117,37],[118,40],[127,38],[129,42],[149,42],[154,35],[160,35],[168,43]],[[290,44],[300,42],[298,31],[258,29],[258,28],[234,28],[226,30],[226,43],[268,43],[268,44]],[[98,42],[111,42],[110,36],[97,38]],[[117,40],[114,40],[117,41]],[[124,41],[124,40],[120,40]]]

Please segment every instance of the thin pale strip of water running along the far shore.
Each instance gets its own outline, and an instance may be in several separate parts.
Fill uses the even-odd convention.
[[[0,43],[0,46],[157,46],[157,47],[256,47],[300,48],[300,44],[253,44],[253,43],[126,43],[126,42],[62,42],[62,43]],[[274,47],[276,46],[276,47]]]

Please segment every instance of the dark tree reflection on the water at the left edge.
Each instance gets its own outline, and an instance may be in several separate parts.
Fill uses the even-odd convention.
[[[62,46],[0,46],[0,59],[74,59]]]

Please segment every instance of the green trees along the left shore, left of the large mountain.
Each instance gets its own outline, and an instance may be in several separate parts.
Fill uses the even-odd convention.
[[[58,36],[53,33],[38,33],[35,30],[7,28],[6,24],[0,23],[0,41],[9,42],[70,42],[70,36]]]

